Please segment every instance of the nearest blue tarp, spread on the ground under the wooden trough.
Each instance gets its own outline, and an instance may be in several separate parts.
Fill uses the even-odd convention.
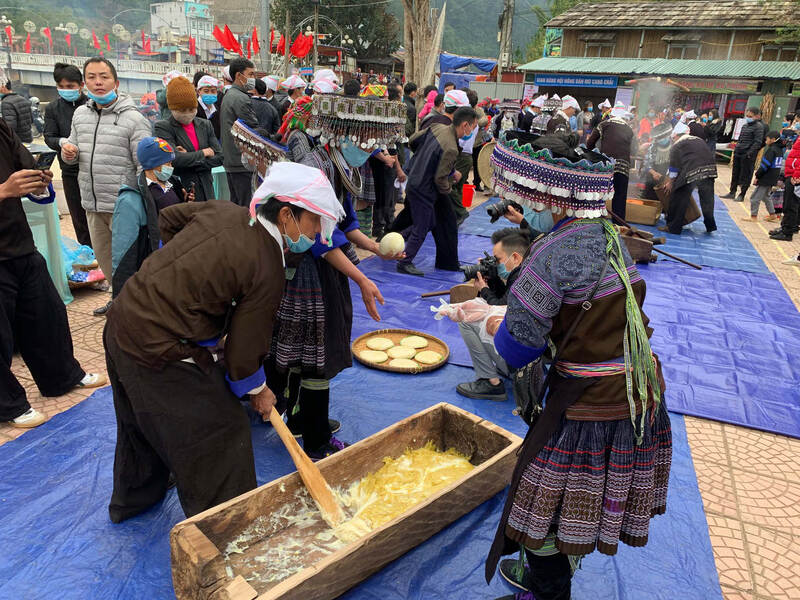
[[[515,433],[511,401],[458,396],[471,376],[452,365],[421,375],[354,366],[333,382],[331,413],[340,436],[357,441],[436,402],[457,404]],[[398,392],[397,390],[402,390]],[[656,517],[645,548],[584,560],[574,600],[721,599],[708,526],[683,418],[673,416],[668,509]],[[259,483],[294,470],[275,432],[253,425]],[[169,530],[183,519],[175,491],[121,525],[108,520],[116,426],[108,388],[18,440],[0,447],[0,597],[112,600],[172,597]],[[335,482],[334,482],[335,483]],[[494,598],[511,593],[483,561],[503,494],[485,502],[346,593],[347,600]],[[657,565],[657,568],[654,568]]]

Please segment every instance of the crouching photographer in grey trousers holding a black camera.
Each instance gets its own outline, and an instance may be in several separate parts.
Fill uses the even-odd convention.
[[[525,229],[508,227],[492,234],[492,244],[492,256],[487,254],[477,265],[468,265],[462,270],[464,278],[473,281],[478,296],[487,304],[505,305],[508,290],[516,281],[530,246],[530,236]],[[506,391],[501,378],[508,377],[510,371],[494,349],[494,344],[481,338],[481,323],[461,322],[458,328],[472,358],[475,380],[458,384],[456,391],[467,398],[505,400]]]

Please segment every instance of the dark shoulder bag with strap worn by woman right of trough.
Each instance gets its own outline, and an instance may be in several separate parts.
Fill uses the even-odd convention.
[[[594,284],[589,298],[584,300],[581,304],[580,312],[569,326],[564,339],[561,341],[562,349],[567,346],[567,343],[572,338],[575,330],[578,328],[583,316],[592,308],[592,300],[594,300],[597,290],[600,288],[600,283],[606,276],[609,260],[610,256],[606,254],[606,262],[603,265],[600,278]],[[560,358],[561,350],[559,349],[556,351],[546,375],[544,373],[544,361],[542,360],[541,356],[524,367],[517,369],[517,371],[514,373],[512,388],[514,390],[514,401],[516,402],[516,408],[513,412],[515,415],[519,416],[523,421],[525,421],[528,427],[534,427],[539,415],[542,414],[542,410],[544,409],[544,398],[547,394],[548,388],[550,387],[550,382],[553,378],[553,375],[556,372],[555,365],[558,363]]]

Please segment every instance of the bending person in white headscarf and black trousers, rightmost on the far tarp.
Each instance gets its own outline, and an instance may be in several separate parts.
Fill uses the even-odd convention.
[[[672,148],[669,152],[669,178],[666,182],[667,189],[672,190],[672,200],[669,203],[667,226],[659,229],[680,235],[686,208],[691,202],[692,192],[697,189],[706,232],[716,231],[714,179],[717,178],[717,164],[714,154],[705,140],[689,134],[689,126],[685,123],[675,125],[672,139]]]

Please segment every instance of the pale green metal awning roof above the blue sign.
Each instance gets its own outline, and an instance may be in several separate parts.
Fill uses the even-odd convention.
[[[800,80],[800,62],[754,60],[683,60],[677,58],[546,57],[519,67],[542,73],[675,75],[743,79]]]

